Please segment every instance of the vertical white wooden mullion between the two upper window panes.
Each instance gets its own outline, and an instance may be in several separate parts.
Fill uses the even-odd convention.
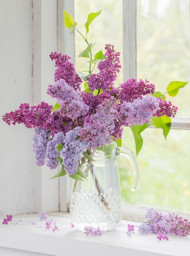
[[[124,81],[137,77],[137,0],[123,0],[123,73]]]

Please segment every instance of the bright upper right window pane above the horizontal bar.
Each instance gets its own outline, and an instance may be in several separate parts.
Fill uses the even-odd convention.
[[[148,79],[166,92],[171,81],[190,81],[189,0],[137,1],[137,76]],[[190,117],[190,83],[170,98],[179,111]]]

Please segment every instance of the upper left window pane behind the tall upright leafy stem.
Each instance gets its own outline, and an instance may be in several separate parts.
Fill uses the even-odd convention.
[[[95,43],[93,47],[93,54],[100,50],[105,53],[104,47],[106,44],[114,45],[116,52],[122,53],[122,0],[75,0],[75,20],[77,22],[77,29],[86,36],[86,29],[84,27],[89,13],[96,13],[102,9],[100,16],[95,18],[89,26],[89,33],[87,35],[88,43]],[[114,10],[114,11],[113,11]],[[75,33],[75,56],[77,71],[88,70],[86,61],[87,58],[78,58],[80,52],[86,49],[87,44],[79,33]],[[122,56],[120,58],[122,64]],[[95,69],[93,73],[96,73]],[[115,86],[119,86],[123,82],[123,70],[119,72]]]

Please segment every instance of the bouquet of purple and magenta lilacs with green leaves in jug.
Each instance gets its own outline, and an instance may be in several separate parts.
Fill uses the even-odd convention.
[[[86,35],[89,25],[100,12],[88,15]],[[66,28],[73,29],[71,33],[78,31],[77,23],[66,11],[64,24]],[[88,74],[77,72],[69,56],[52,52],[50,58],[55,61],[56,67],[55,84],[48,86],[47,94],[56,99],[55,106],[45,102],[38,106],[22,103],[18,110],[3,116],[8,125],[22,123],[27,128],[35,128],[33,151],[38,166],[46,164],[55,169],[61,165],[60,171],[53,177],[67,173],[76,180],[84,177],[80,170],[82,157],[92,160],[91,150],[111,141],[120,143],[123,126],[132,129],[138,154],[142,147],[140,133],[153,123],[163,129],[166,137],[170,117],[175,117],[177,112],[177,107],[166,101],[161,92],[155,92],[155,85],[147,80],[132,78],[115,87],[114,82],[121,68],[120,53],[115,51],[113,45],[106,44],[105,53],[99,51],[92,58],[93,44],[88,43],[87,36],[82,37],[87,47],[80,56],[89,58]],[[96,63],[97,74],[92,73]],[[81,91],[83,81],[85,90]],[[172,82],[167,92],[175,96],[185,85],[184,82]]]

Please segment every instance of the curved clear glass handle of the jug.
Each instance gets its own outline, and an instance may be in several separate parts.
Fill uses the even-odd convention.
[[[137,188],[137,182],[138,182],[138,167],[137,167],[137,160],[136,157],[133,153],[133,151],[131,151],[128,148],[123,148],[123,147],[117,147],[117,155],[124,155],[125,157],[128,158],[129,162],[130,162],[130,166],[133,170],[133,184],[131,187],[131,191],[135,191]]]

